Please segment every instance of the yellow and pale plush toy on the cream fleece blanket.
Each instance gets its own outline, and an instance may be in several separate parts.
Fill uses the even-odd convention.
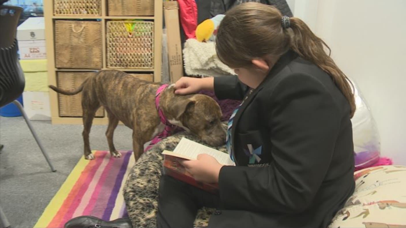
[[[200,23],[195,31],[197,41],[214,41],[216,39],[218,26],[224,16],[224,14],[218,14],[215,17],[204,20]]]

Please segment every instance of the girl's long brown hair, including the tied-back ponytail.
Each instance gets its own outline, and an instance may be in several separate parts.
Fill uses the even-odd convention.
[[[257,2],[227,11],[216,36],[219,59],[229,67],[248,67],[253,59],[291,49],[330,75],[348,100],[352,117],[356,109],[352,83],[331,59],[330,48],[299,18],[290,17],[290,27],[283,28],[282,16],[275,7]]]

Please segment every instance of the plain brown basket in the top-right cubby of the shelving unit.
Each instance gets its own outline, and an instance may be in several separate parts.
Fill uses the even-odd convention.
[[[154,0],[107,0],[109,16],[153,16]]]

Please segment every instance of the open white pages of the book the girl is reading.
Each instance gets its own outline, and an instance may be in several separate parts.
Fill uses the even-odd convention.
[[[222,165],[235,165],[234,162],[231,161],[229,154],[223,153],[219,150],[210,148],[186,138],[182,138],[176,146],[175,150],[173,150],[173,153],[168,155],[177,156],[176,154],[179,154],[178,157],[189,160],[196,160],[197,155],[199,154],[209,154]]]

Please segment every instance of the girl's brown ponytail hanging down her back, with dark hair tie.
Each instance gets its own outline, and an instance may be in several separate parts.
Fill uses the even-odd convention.
[[[300,57],[311,61],[330,75],[335,85],[337,85],[347,98],[351,108],[350,117],[352,118],[356,109],[354,93],[352,92],[354,85],[352,85],[348,77],[337,67],[333,59],[331,59],[331,50],[327,44],[317,37],[299,18],[290,17],[289,20],[289,28],[292,29],[290,48],[298,53]],[[284,30],[289,31],[289,29]],[[328,54],[326,54],[324,47],[328,49]]]

